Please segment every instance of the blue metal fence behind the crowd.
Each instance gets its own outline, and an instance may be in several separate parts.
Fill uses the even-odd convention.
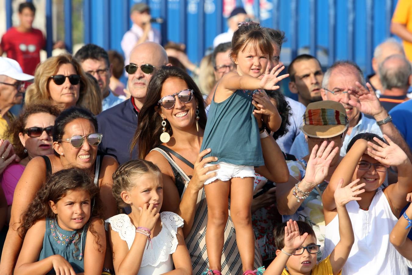
[[[46,1],[47,51],[52,50],[52,0]],[[12,0],[5,1],[7,28],[12,24]],[[187,54],[199,62],[213,38],[227,30],[222,16],[223,0],[84,0],[84,42],[122,52],[120,41],[131,27],[129,10],[137,2],[151,8],[153,17],[165,19],[153,24],[162,42],[181,42]],[[242,5],[244,0],[236,0]],[[323,51],[325,65],[349,59],[371,73],[373,49],[389,37],[389,24],[397,0],[254,0],[253,11],[262,26],[279,28],[288,41],[283,52],[291,60],[301,49],[312,55]],[[73,47],[72,0],[64,0],[65,42]],[[263,16],[263,14],[265,14]],[[284,57],[284,55],[283,55]],[[287,63],[287,60],[286,60]]]

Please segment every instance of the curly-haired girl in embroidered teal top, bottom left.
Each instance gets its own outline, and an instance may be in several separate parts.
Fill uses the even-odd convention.
[[[106,236],[99,188],[78,168],[50,176],[22,216],[14,274],[101,274]]]

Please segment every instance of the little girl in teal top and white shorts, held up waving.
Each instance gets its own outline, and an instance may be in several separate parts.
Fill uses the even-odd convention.
[[[208,205],[206,247],[209,259],[209,269],[204,274],[220,274],[222,270],[229,190],[230,211],[236,228],[243,274],[261,274],[264,271],[263,267],[256,270],[253,265],[255,238],[250,205],[254,167],[262,166],[260,169],[264,169],[260,139],[268,136],[265,127],[276,132],[281,118],[276,107],[265,100],[264,92],[258,89],[279,89],[276,83],[288,77],[288,74],[278,77],[283,66],[279,68],[277,65],[269,72],[268,61],[272,53],[272,40],[265,29],[253,21],[239,24],[232,38],[230,53],[236,72],[225,74],[216,88],[200,149],[211,148],[211,153],[216,157],[215,162],[205,167],[216,164],[219,167],[213,171],[216,175],[204,183]],[[263,127],[259,128],[262,120]],[[256,172],[265,175],[258,168]]]

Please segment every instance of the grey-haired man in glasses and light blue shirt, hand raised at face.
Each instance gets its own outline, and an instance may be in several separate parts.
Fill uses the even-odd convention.
[[[341,103],[349,119],[340,155],[346,154],[346,146],[359,133],[386,134],[410,157],[410,149],[392,123],[391,116],[383,108],[372,87],[366,85],[363,72],[351,61],[337,61],[323,76],[321,95],[323,100]],[[368,115],[372,118],[367,118]],[[307,141],[299,134],[292,144],[290,153],[297,158],[308,155]]]

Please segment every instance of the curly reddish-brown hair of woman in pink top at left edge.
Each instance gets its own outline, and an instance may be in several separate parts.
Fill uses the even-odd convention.
[[[14,152],[21,159],[27,157],[28,154],[27,152],[24,153],[24,147],[23,144],[21,144],[20,142],[19,134],[23,133],[23,130],[26,128],[26,123],[30,115],[34,115],[37,113],[47,113],[50,115],[54,115],[57,118],[60,114],[60,110],[52,106],[50,102],[47,101],[44,101],[39,104],[26,105],[21,111],[19,117],[17,117],[9,124],[4,134],[5,139],[7,139],[13,144]]]

